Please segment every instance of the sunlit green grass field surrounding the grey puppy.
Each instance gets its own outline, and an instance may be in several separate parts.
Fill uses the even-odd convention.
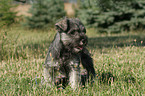
[[[143,96],[145,33],[99,34],[88,29],[88,48],[97,73],[93,85],[72,90],[41,84],[43,63],[55,30],[0,29],[0,94],[40,96]]]

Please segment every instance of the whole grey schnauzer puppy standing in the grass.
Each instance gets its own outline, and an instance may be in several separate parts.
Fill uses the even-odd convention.
[[[76,89],[82,81],[80,64],[86,70],[88,79],[89,76],[92,80],[95,77],[93,59],[86,49],[86,29],[78,18],[63,18],[55,26],[57,33],[44,63],[44,80],[50,87],[65,82]]]

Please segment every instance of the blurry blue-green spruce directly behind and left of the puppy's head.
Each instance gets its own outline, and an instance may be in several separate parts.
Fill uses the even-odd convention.
[[[29,13],[32,16],[26,18],[25,25],[32,29],[45,29],[65,16],[64,4],[62,0],[37,0]]]

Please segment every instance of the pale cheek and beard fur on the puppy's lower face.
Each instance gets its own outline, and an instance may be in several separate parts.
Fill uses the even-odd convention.
[[[79,45],[80,41],[72,39],[70,36],[68,36],[66,33],[61,33],[61,41],[64,45],[64,47],[67,50],[71,50],[73,53],[79,53],[83,50],[84,46]]]

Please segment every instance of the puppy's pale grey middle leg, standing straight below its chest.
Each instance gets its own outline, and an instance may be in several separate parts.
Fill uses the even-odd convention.
[[[79,87],[80,81],[81,81],[81,76],[80,76],[79,63],[74,63],[71,65],[71,70],[69,73],[70,86],[73,89],[76,89],[77,87]]]

